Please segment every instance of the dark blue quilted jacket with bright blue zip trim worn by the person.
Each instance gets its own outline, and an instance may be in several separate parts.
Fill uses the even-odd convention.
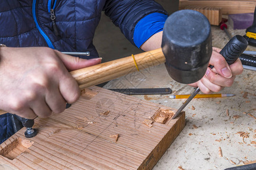
[[[93,36],[101,11],[134,44],[134,27],[152,12],[167,14],[152,0],[1,0],[0,43],[7,46],[49,46],[98,57]],[[13,134],[8,115],[0,116],[0,143]],[[1,141],[2,140],[2,141]]]

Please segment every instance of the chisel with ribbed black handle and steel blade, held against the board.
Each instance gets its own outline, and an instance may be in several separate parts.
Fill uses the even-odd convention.
[[[234,63],[237,58],[243,53],[243,51],[247,48],[248,42],[246,39],[240,35],[234,36],[232,39],[229,40],[228,44],[224,46],[224,48],[221,50],[220,54],[226,59],[226,62],[231,65]],[[210,66],[213,68],[213,66]],[[188,103],[195,97],[198,92],[200,92],[200,88],[197,87],[195,92],[191,96],[188,97],[188,99],[185,101],[183,105],[177,110],[177,112],[174,114],[175,118],[177,117],[180,112],[188,105]]]

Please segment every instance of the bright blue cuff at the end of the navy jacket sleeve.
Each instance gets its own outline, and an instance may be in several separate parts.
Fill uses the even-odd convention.
[[[134,29],[134,44],[140,48],[152,35],[163,31],[167,17],[168,15],[155,12],[139,20]]]

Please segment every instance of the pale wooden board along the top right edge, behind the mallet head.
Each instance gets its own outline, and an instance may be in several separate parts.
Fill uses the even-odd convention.
[[[200,5],[209,7],[220,7],[222,8],[222,14],[243,14],[253,13],[255,10],[256,1],[194,1],[194,0],[180,0],[179,9],[183,10],[188,5]]]

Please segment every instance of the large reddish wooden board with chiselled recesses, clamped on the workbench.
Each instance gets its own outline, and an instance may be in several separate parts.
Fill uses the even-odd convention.
[[[0,145],[0,168],[151,169],[185,126],[185,113],[152,127],[142,124],[159,108],[100,87],[88,88],[63,113],[36,118],[38,135],[18,131]],[[107,115],[104,111],[110,111]],[[174,109],[174,111],[176,111]],[[118,134],[118,140],[110,135]]]

